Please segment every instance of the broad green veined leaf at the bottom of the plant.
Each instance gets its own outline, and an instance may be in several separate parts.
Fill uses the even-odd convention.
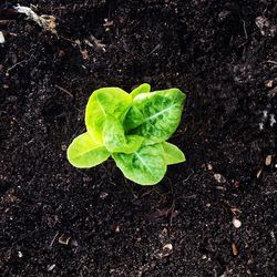
[[[162,144],[142,146],[133,154],[115,153],[113,158],[126,178],[141,184],[157,184],[166,172]]]

